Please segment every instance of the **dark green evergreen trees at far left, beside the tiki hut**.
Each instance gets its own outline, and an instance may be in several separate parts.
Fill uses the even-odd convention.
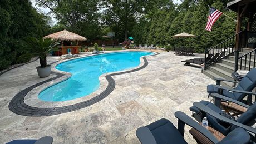
[[[24,37],[42,37],[49,29],[46,17],[28,0],[0,1],[0,69],[18,63],[17,58],[27,53]]]

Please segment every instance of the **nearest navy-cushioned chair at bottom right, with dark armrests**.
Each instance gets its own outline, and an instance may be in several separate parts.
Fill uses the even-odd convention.
[[[240,123],[235,123],[238,128],[235,128],[229,133],[223,140],[219,141],[213,134],[198,122],[187,116],[183,112],[175,112],[175,116],[178,118],[178,129],[169,120],[162,118],[158,121],[151,123],[145,127],[140,127],[136,131],[136,135],[141,143],[187,143],[184,136],[185,124],[195,128],[195,130],[202,133],[212,143],[248,143],[250,141],[250,135],[245,130],[256,133],[256,130],[252,127],[244,126]],[[216,115],[218,116],[218,115]],[[218,116],[220,120],[228,121],[223,116]],[[242,128],[241,128],[242,127]],[[244,129],[245,130],[244,130]]]

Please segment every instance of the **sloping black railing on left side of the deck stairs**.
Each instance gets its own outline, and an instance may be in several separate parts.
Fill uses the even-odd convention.
[[[240,31],[237,34],[241,34],[245,30]],[[232,37],[226,39],[225,41],[217,44],[212,48],[205,48],[205,62],[204,69],[208,69],[209,66],[220,61],[220,59],[226,58],[235,52],[235,37],[237,34],[234,34]]]

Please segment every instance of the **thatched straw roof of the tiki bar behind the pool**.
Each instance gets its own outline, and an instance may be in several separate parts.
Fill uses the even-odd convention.
[[[52,39],[55,39],[56,41],[86,41],[87,40],[85,37],[79,36],[76,33],[68,32],[66,29],[60,32],[50,34],[43,38],[52,38]]]

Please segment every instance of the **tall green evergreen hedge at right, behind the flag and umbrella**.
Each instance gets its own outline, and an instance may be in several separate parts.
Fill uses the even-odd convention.
[[[179,6],[173,4],[164,9],[157,9],[147,21],[140,20],[135,24],[134,29],[141,30],[132,31],[134,33],[131,35],[135,37],[136,44],[158,44],[160,46],[170,44],[174,47],[194,48],[195,52],[203,53],[205,48],[213,47],[235,34],[236,23],[225,16],[221,16],[215,22],[211,32],[205,30],[209,6],[235,18],[234,12],[225,9],[226,4],[227,1],[220,0],[184,0]],[[195,34],[198,37],[171,37],[181,32]]]

